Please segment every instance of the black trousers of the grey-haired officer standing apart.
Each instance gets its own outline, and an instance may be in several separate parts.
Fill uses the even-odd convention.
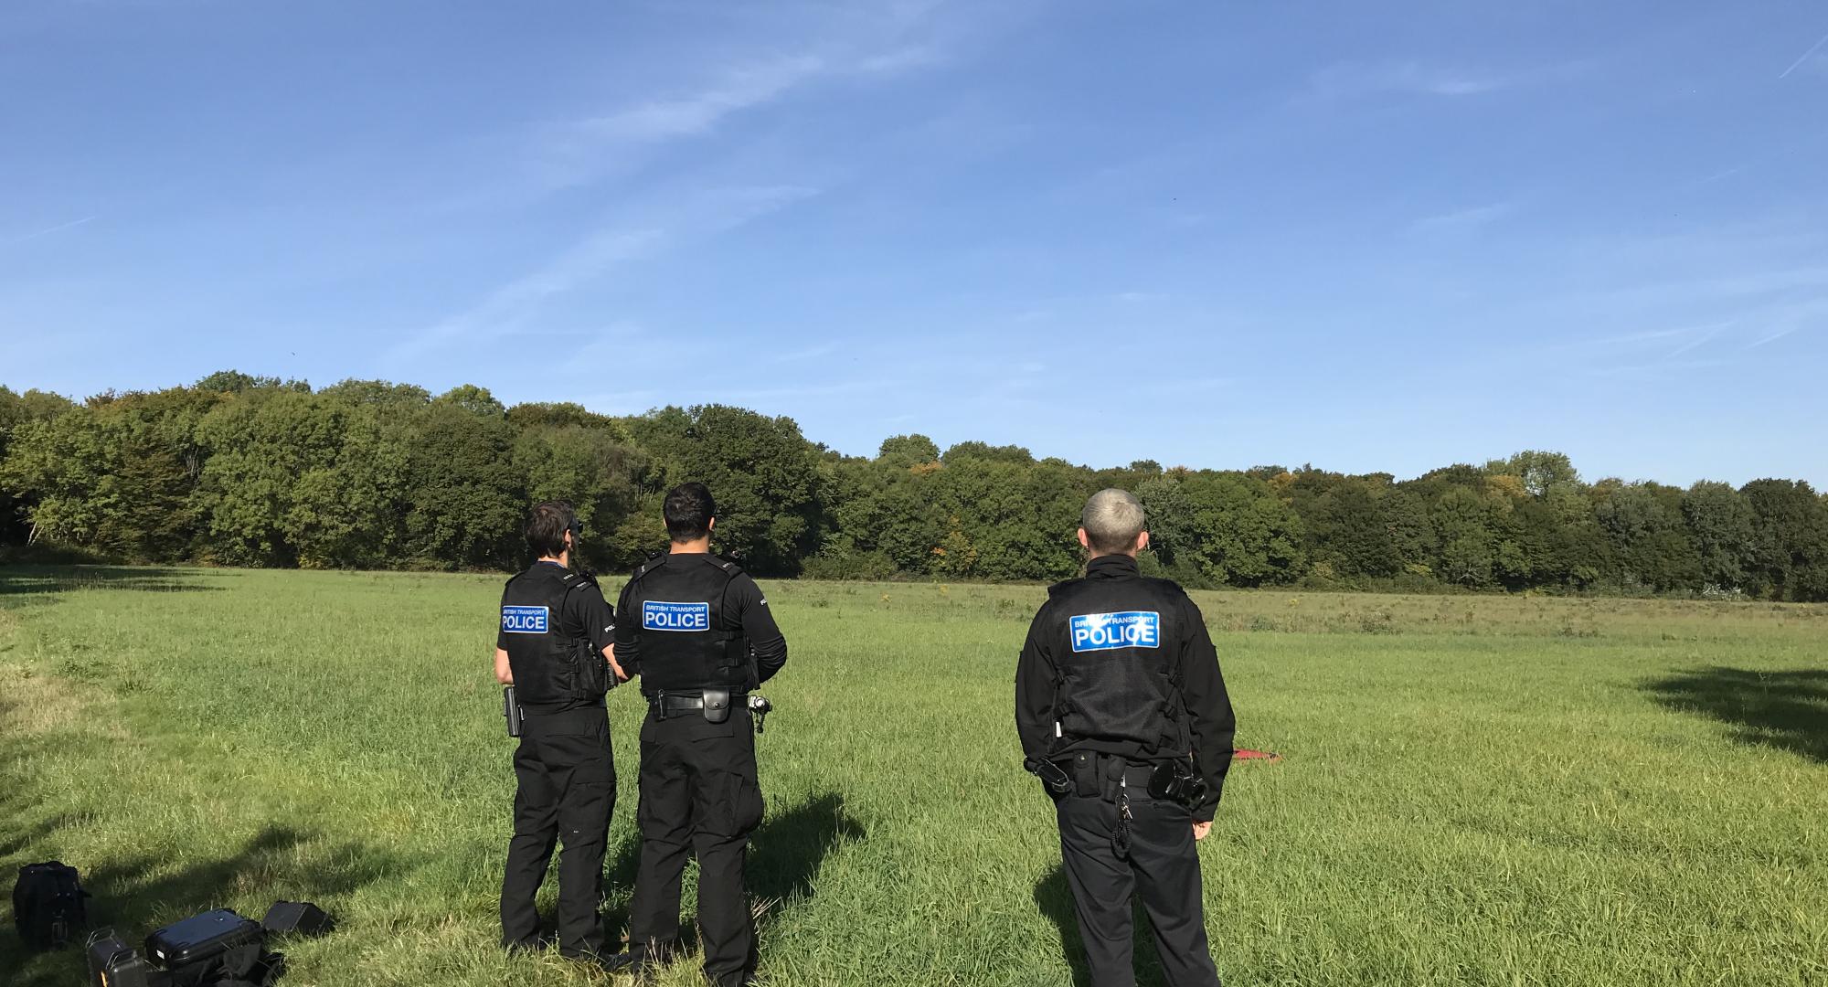
[[[1135,987],[1132,896],[1139,896],[1148,912],[1168,983],[1217,987],[1199,899],[1194,813],[1132,788],[1130,859],[1121,859],[1111,844],[1117,802],[1064,795],[1055,810],[1091,987]]]

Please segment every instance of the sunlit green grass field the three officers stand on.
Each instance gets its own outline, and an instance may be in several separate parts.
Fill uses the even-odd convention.
[[[499,585],[0,570],[0,866],[77,865],[130,936],[314,899],[342,929],[287,947],[294,987],[592,982],[494,947]],[[1051,812],[1009,713],[1044,590],[768,594],[792,658],[759,744],[766,982],[1069,983]],[[1201,844],[1228,983],[1828,983],[1828,609],[1196,600],[1239,742],[1285,755],[1238,766]],[[620,930],[640,706],[609,706]],[[80,967],[0,930],[0,982]]]

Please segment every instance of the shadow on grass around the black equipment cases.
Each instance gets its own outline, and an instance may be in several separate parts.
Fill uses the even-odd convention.
[[[18,837],[20,833],[7,833],[9,843]],[[82,886],[93,894],[88,903],[88,930],[112,925],[128,943],[139,943],[161,925],[230,901],[302,899],[335,910],[338,897],[408,866],[399,857],[355,843],[327,843],[316,833],[285,826],[261,830],[227,857],[177,866],[159,855],[93,866],[82,859],[64,863],[82,872]],[[258,919],[260,914],[252,918]],[[0,971],[13,971],[7,980],[11,987],[58,987],[84,983],[88,978],[80,941],[55,952],[26,952],[11,934],[0,936]]]

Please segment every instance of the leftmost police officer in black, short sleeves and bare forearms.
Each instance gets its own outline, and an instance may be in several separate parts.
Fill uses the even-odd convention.
[[[596,579],[572,567],[581,526],[570,504],[534,508],[526,543],[539,557],[501,592],[495,678],[514,685],[523,707],[514,751],[514,839],[501,881],[501,943],[537,949],[534,896],[559,857],[559,952],[603,954],[603,848],[616,808],[616,762],[609,749],[603,693],[627,678],[616,667],[616,614]]]

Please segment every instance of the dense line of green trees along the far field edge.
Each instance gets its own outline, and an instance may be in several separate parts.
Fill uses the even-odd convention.
[[[1060,579],[1086,495],[1133,490],[1146,567],[1201,587],[1546,589],[1828,600],[1828,497],[1808,483],[1581,481],[1521,451],[1397,481],[1314,468],[1117,468],[896,435],[877,455],[742,408],[607,417],[486,389],[223,371],[80,404],[0,387],[0,543],[126,561],[512,568],[532,501],[569,499],[596,568],[664,545],[698,479],[718,541],[773,576]]]

